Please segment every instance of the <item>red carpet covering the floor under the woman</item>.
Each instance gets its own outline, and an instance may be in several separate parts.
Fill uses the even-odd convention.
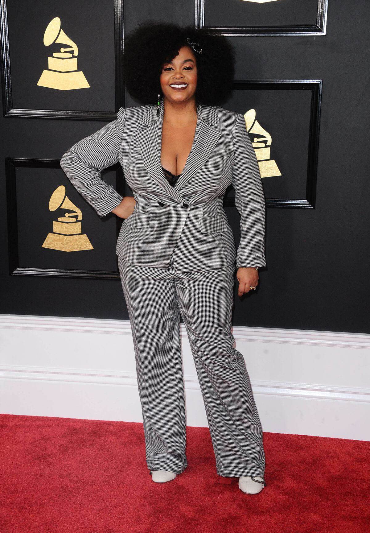
[[[267,487],[218,482],[208,428],[154,483],[142,424],[0,415],[1,533],[367,533],[370,442],[264,433]]]

